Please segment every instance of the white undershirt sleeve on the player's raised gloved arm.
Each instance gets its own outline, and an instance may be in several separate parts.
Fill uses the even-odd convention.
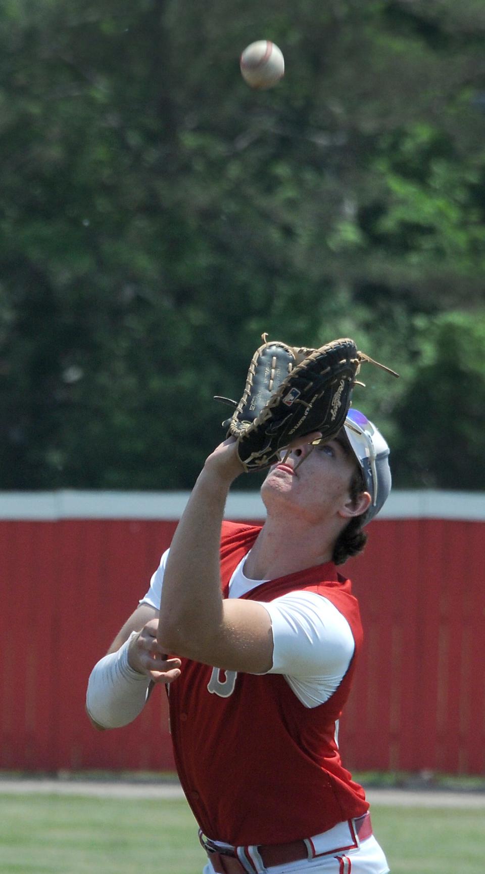
[[[284,674],[306,707],[324,704],[342,682],[355,649],[345,616],[314,592],[290,592],[258,603],[270,614],[273,631],[268,673]]]

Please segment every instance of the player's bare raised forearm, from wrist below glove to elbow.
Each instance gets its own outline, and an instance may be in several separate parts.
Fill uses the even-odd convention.
[[[234,478],[234,477],[232,477]],[[220,540],[232,478],[204,468],[170,545],[158,640],[176,655],[199,657],[222,624]]]

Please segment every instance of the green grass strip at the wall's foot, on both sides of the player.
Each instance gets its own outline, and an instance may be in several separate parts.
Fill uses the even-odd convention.
[[[372,822],[392,874],[483,872],[483,810],[375,805]],[[201,874],[203,864],[185,801],[0,794],[1,874]]]

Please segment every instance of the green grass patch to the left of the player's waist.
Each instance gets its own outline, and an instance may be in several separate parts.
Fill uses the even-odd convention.
[[[2,874],[199,874],[185,801],[0,795]]]

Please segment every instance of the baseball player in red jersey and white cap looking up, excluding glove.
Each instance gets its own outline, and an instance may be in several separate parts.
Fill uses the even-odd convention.
[[[99,728],[131,722],[154,683],[167,684],[203,874],[389,871],[338,750],[362,627],[337,570],[389,495],[389,447],[353,408],[331,440],[320,436],[296,440],[270,468],[262,526],[222,521],[243,468],[234,438],[216,447],[147,593],[89,679]]]

